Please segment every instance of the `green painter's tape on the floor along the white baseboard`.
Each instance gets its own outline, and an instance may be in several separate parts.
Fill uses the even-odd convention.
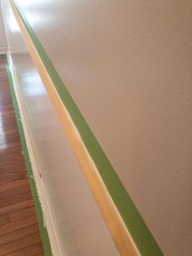
[[[20,109],[19,109],[17,99],[15,96],[15,90],[14,90],[13,81],[12,81],[12,77],[11,77],[11,71],[9,69],[9,65],[7,64],[7,59],[5,59],[5,62],[6,62],[6,68],[7,68],[7,75],[8,75],[8,79],[9,79],[9,85],[10,85],[10,89],[11,89],[11,97],[13,100],[13,106],[14,106],[14,110],[15,110],[16,122],[17,122],[18,130],[20,132],[20,141],[21,141],[21,145],[23,148],[22,154],[24,156],[24,161],[25,161],[25,165],[26,165],[26,169],[27,169],[27,173],[28,173],[28,181],[29,181],[29,185],[31,188],[33,202],[34,202],[34,206],[35,206],[35,210],[36,210],[36,214],[37,214],[37,221],[38,221],[39,230],[41,233],[42,245],[43,245],[44,253],[46,254],[46,256],[51,256],[52,254],[51,254],[51,249],[50,249],[50,241],[49,241],[49,237],[47,235],[46,227],[44,227],[41,204],[40,204],[40,201],[39,201],[39,198],[37,195],[37,188],[36,188],[36,184],[35,184],[35,181],[33,178],[33,170],[32,170],[32,166],[30,164],[29,156],[28,156],[28,148],[27,148],[25,137],[24,137],[24,128],[22,125],[22,121],[20,119]]]

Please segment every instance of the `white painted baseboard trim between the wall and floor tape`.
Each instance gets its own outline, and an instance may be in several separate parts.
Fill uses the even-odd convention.
[[[20,89],[19,89],[20,86],[19,86],[19,82],[18,82],[18,79],[15,74],[15,70],[13,68],[10,52],[7,53],[7,60],[8,60],[8,64],[9,64],[9,67],[11,70],[11,77],[13,80],[15,96],[16,96],[16,99],[18,102],[18,107],[20,110],[20,118],[21,118],[22,125],[24,128],[24,137],[26,139],[28,155],[29,155],[29,159],[31,161],[31,166],[32,166],[32,170],[33,170],[33,178],[36,183],[37,194],[39,196],[39,201],[41,203],[44,225],[47,229],[48,236],[50,239],[51,251],[52,251],[53,256],[63,256],[63,254],[61,253],[59,241],[58,241],[58,238],[56,235],[55,224],[54,224],[54,221],[52,218],[49,201],[47,200],[46,188],[45,188],[45,186],[43,184],[43,180],[41,178],[41,170],[39,170],[40,167],[38,166],[36,153],[34,152],[35,149],[33,146],[33,137],[30,133],[30,129],[28,128],[29,126],[28,126],[28,120],[26,118],[26,114],[24,111],[24,104],[22,102],[22,98],[20,97]]]

